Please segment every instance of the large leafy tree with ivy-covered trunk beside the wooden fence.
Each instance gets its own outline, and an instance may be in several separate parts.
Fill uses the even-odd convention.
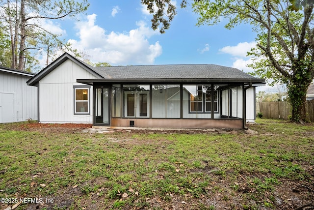
[[[306,119],[306,92],[314,78],[313,0],[194,0],[197,25],[215,25],[228,20],[225,28],[238,24],[252,26],[257,46],[250,52],[255,75],[286,84],[293,121]],[[157,3],[158,2],[158,3]],[[160,3],[161,2],[161,3]],[[154,14],[152,28],[169,28],[176,9],[171,0],[142,0]],[[181,6],[186,5],[186,0]],[[302,5],[296,11],[293,5]],[[157,8],[157,9],[156,9]],[[169,17],[167,19],[167,16]]]

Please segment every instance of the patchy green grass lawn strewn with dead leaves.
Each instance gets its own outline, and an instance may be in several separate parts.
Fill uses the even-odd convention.
[[[314,124],[81,133],[0,124],[0,210],[295,209],[314,203]]]

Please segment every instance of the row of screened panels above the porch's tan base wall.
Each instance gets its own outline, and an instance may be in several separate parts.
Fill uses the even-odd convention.
[[[242,119],[242,89],[210,84],[112,85],[111,115],[140,119]]]

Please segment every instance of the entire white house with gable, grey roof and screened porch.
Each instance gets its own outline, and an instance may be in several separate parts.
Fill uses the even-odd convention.
[[[67,53],[27,81],[43,123],[236,129],[255,120],[262,83],[213,64],[93,67]]]

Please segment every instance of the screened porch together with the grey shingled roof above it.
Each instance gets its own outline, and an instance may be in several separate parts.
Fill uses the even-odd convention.
[[[93,124],[111,127],[236,128],[255,119],[255,86],[265,82],[213,65],[94,68]]]

